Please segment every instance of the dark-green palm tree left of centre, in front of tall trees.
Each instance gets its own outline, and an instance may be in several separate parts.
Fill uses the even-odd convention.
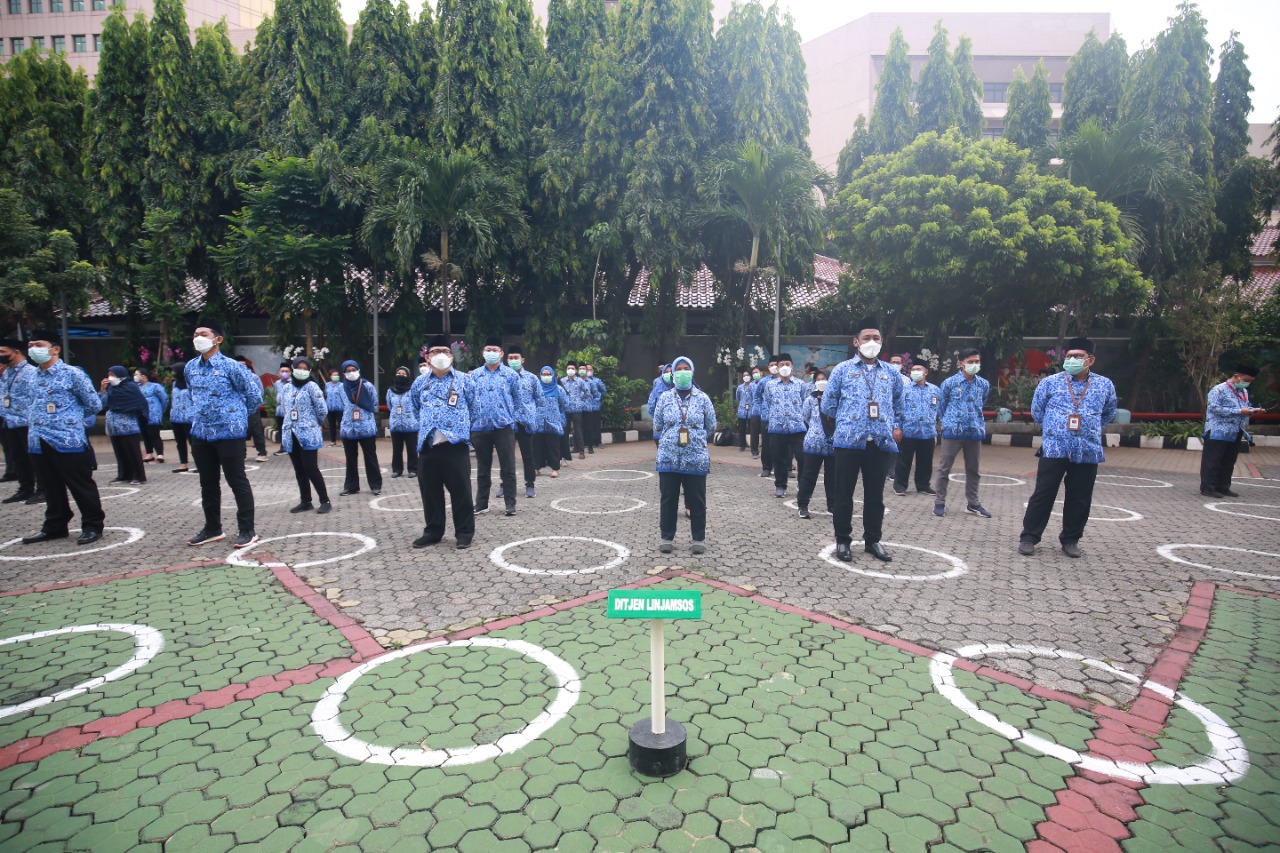
[[[527,225],[515,192],[479,159],[438,151],[388,160],[378,183],[378,195],[360,229],[361,241],[372,245],[379,231],[388,231],[402,273],[412,273],[422,261],[429,272],[440,275],[443,330],[449,334],[452,286],[462,278],[461,266],[449,256],[451,237],[465,233],[470,238],[472,263],[488,257],[500,229],[522,238]],[[439,232],[439,251],[420,251],[425,227]]]

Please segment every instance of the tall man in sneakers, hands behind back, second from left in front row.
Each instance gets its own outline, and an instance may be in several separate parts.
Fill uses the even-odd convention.
[[[200,474],[200,503],[205,526],[187,540],[189,546],[223,538],[223,492],[225,478],[236,497],[237,549],[257,542],[253,529],[253,489],[244,474],[244,439],[248,415],[262,405],[262,380],[244,365],[221,352],[223,327],[206,320],[196,327],[191,345],[198,359],[187,362],[191,388],[191,460]]]

